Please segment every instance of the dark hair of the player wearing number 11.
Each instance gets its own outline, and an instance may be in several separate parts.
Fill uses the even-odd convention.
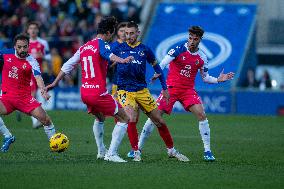
[[[97,34],[106,34],[107,32],[113,33],[116,23],[116,18],[113,16],[103,18],[98,24]]]

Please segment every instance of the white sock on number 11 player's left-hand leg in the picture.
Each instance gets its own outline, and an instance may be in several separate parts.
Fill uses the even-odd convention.
[[[93,125],[93,132],[98,147],[98,152],[104,152],[106,149],[104,145],[104,122],[95,120]]]

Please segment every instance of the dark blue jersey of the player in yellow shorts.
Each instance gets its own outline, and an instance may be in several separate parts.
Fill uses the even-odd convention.
[[[156,64],[152,50],[140,42],[134,46],[124,42],[113,49],[112,52],[121,58],[134,57],[131,63],[117,64],[118,90],[136,92],[146,88],[146,62],[152,65]]]

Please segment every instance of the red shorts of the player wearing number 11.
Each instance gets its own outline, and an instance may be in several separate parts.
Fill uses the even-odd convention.
[[[114,116],[118,112],[121,105],[110,95],[102,96],[82,94],[82,101],[87,105],[88,113],[102,113],[105,116]]]

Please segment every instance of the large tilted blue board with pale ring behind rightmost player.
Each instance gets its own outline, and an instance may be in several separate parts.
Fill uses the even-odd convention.
[[[155,11],[145,44],[161,61],[171,48],[187,41],[190,26],[198,25],[205,30],[200,48],[208,57],[210,75],[217,77],[223,68],[225,72],[238,73],[255,16],[253,4],[161,3]],[[147,72],[149,81],[154,71],[148,66]],[[207,85],[199,74],[196,79],[197,90],[229,90],[232,84]],[[159,83],[149,87],[161,88]]]

